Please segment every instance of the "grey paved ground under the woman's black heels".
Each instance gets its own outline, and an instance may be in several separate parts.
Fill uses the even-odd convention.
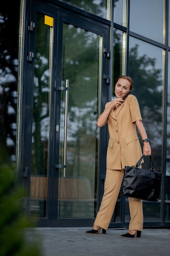
[[[127,229],[108,229],[106,235],[86,234],[89,228],[26,230],[29,242],[38,238],[42,256],[170,256],[170,229],[144,229],[141,238],[123,238]]]

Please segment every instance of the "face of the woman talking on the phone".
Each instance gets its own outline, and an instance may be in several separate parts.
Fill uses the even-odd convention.
[[[119,78],[115,85],[116,98],[123,98],[130,92],[130,81],[124,78]]]

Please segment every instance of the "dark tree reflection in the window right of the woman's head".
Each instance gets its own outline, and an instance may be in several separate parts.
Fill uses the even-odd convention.
[[[135,45],[129,52],[129,76],[134,81],[132,93],[139,100],[155,165],[161,168],[162,70],[155,67],[156,58],[139,56],[138,48],[139,45]]]

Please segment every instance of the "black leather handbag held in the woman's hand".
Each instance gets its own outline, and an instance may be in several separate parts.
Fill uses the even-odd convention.
[[[122,195],[146,201],[157,202],[161,189],[162,173],[156,172],[150,155],[150,168],[139,168],[141,160],[135,166],[125,166],[122,181]]]

